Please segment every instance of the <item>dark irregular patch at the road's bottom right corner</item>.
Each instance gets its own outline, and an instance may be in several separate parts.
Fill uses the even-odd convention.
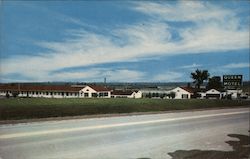
[[[216,150],[177,150],[168,153],[172,159],[250,159],[250,136],[240,134],[228,134],[238,141],[226,141],[232,146],[233,151]],[[138,158],[150,159],[150,158]]]

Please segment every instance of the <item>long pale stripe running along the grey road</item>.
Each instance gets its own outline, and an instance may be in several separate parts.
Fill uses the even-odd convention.
[[[104,129],[104,128],[123,127],[123,126],[134,126],[134,125],[143,125],[143,124],[153,124],[153,123],[161,123],[161,122],[199,119],[199,118],[216,117],[216,116],[227,116],[227,115],[236,115],[236,114],[244,114],[244,113],[249,113],[249,112],[248,111],[239,111],[239,112],[229,112],[229,113],[218,113],[218,114],[208,114],[208,115],[197,115],[197,116],[188,116],[188,117],[148,120],[148,121],[139,121],[139,122],[106,124],[106,125],[98,125],[98,126],[87,126],[87,127],[77,127],[77,128],[62,128],[62,129],[43,130],[43,131],[36,131],[36,132],[24,132],[24,133],[21,132],[21,133],[0,135],[0,139],[11,139],[11,138],[28,137],[28,136],[39,136],[39,135],[49,135],[49,134],[57,134],[57,133],[67,133],[67,132],[74,132],[74,131]]]

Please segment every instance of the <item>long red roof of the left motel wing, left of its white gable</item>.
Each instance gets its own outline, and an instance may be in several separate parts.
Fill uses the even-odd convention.
[[[0,90],[5,91],[63,91],[63,92],[78,92],[84,87],[72,87],[70,85],[25,85],[18,86],[10,84],[1,84]]]

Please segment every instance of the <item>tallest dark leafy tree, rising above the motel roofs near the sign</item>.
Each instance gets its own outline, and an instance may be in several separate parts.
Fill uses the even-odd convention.
[[[199,70],[197,69],[195,72],[191,73],[191,78],[194,80],[195,87],[200,89],[200,86],[203,84],[204,80],[207,80],[209,77],[209,73],[207,70]]]

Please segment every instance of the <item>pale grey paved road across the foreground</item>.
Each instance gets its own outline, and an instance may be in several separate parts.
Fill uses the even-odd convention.
[[[232,150],[249,108],[0,126],[1,159],[171,158],[176,150]]]

